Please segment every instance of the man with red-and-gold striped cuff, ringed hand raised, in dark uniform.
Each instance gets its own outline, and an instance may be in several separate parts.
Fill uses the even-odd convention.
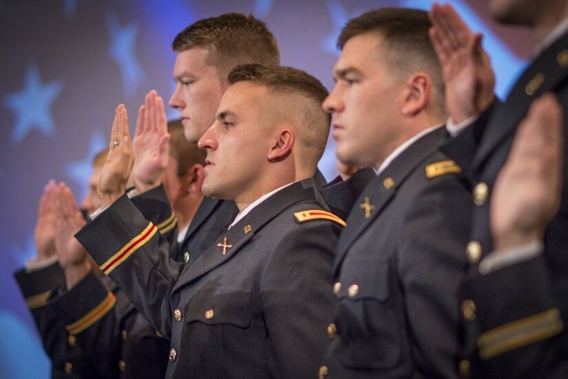
[[[322,359],[344,225],[316,201],[313,183],[327,91],[299,70],[261,65],[236,68],[229,82],[199,141],[204,194],[239,207],[229,229],[193,265],[168,258],[156,227],[123,195],[132,152],[120,105],[99,184],[107,209],[76,238],[171,338],[168,378],[308,378]]]

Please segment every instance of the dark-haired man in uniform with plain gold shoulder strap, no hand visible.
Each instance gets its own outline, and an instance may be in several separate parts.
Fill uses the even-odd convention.
[[[444,90],[428,28],[425,12],[383,8],[350,20],[339,37],[324,101],[337,157],[377,176],[339,238],[319,378],[457,376],[469,192],[438,150]]]

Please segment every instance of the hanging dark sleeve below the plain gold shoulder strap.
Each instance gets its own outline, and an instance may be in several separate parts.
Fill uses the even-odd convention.
[[[454,175],[429,180],[414,196],[399,236],[399,273],[412,356],[425,377],[456,376],[457,290],[467,261],[470,194]]]

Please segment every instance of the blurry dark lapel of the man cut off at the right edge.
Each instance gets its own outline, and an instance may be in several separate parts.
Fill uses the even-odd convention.
[[[507,101],[498,107],[490,124],[485,128],[481,145],[472,163],[474,172],[481,167],[485,157],[501,145],[503,139],[514,134],[530,103],[544,92],[554,91],[567,79],[568,33],[529,65],[509,93]]]

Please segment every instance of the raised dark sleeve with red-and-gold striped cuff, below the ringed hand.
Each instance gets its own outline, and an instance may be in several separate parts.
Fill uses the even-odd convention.
[[[136,309],[169,338],[170,294],[183,265],[169,258],[169,244],[156,225],[124,195],[76,238]]]

